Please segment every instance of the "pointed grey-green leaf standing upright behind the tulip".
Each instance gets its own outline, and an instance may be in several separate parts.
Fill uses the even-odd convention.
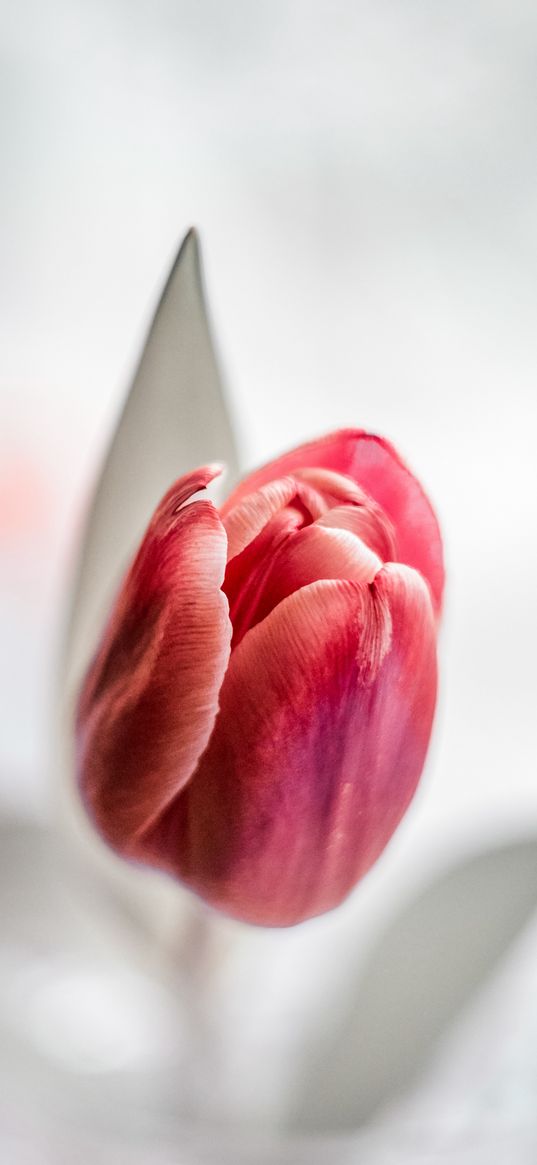
[[[157,306],[87,516],[64,644],[62,690],[78,682],[120,574],[160,497],[189,468],[225,461],[233,429],[190,231]]]

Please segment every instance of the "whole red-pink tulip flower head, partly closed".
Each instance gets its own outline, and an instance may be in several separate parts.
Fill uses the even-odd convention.
[[[344,430],[220,511],[181,478],[77,713],[87,811],[125,857],[284,926],[337,906],[415,792],[436,701],[437,520],[384,439]]]

